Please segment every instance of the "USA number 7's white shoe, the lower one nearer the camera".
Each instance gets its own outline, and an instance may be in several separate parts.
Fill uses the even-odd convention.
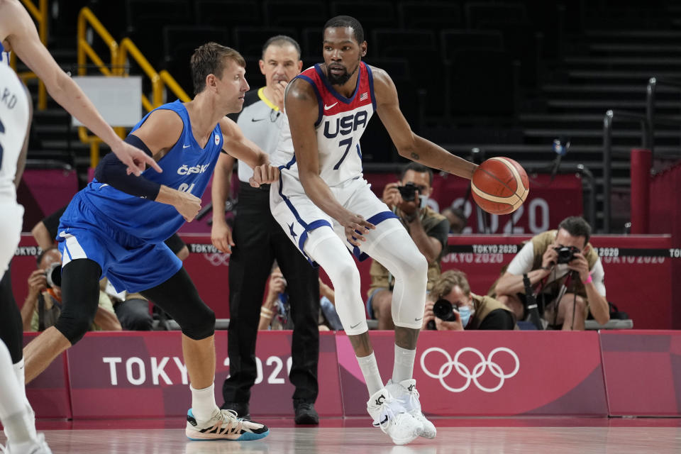
[[[407,413],[404,406],[387,389],[379,389],[367,402],[367,411],[396,445],[406,445],[423,431],[423,424]]]

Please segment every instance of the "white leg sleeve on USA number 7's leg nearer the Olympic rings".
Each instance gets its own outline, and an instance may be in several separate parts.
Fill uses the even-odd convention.
[[[387,219],[367,234],[362,248],[395,277],[392,320],[395,326],[421,328],[426,306],[428,262],[397,219]]]

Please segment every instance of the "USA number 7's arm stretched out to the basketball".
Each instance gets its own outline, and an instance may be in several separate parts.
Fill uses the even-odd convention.
[[[433,169],[470,179],[477,165],[449,153],[430,140],[414,134],[399,110],[397,89],[384,70],[372,67],[376,112],[387,129],[399,155]]]

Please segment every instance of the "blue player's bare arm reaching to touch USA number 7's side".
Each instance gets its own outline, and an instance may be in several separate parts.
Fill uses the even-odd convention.
[[[220,121],[220,128],[224,140],[223,150],[253,168],[253,177],[249,180],[251,186],[259,187],[260,184],[273,183],[279,179],[279,169],[270,165],[267,153],[248,140],[236,123],[225,117]]]

